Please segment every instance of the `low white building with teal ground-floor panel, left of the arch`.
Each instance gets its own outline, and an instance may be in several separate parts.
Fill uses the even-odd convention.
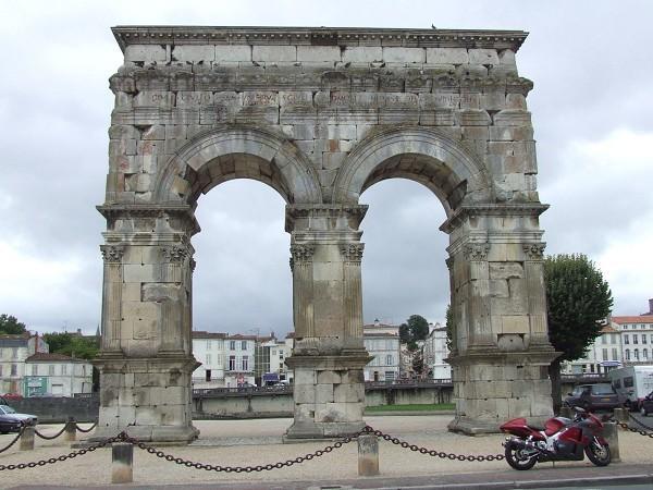
[[[93,391],[93,365],[63,354],[36,353],[25,359],[23,396],[73,396]]]

